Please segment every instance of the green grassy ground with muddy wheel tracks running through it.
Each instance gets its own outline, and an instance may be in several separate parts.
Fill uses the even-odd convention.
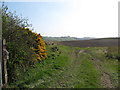
[[[116,88],[118,61],[107,47],[47,45],[48,58],[28,69],[9,88]]]

